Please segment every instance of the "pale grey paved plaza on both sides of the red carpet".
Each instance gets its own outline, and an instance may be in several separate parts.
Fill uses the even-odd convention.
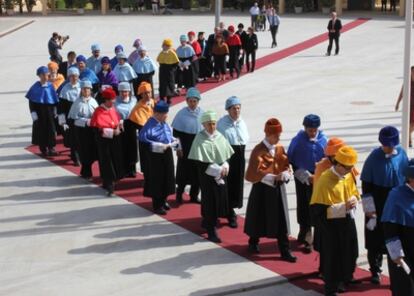
[[[96,185],[25,149],[31,118],[24,95],[37,79],[36,68],[48,62],[53,31],[70,35],[64,56],[69,50],[88,56],[92,43],[100,43],[110,57],[116,44],[129,53],[139,37],[156,58],[164,38],[177,45],[188,31],[212,32],[213,16],[3,18],[0,33],[31,20],[0,38],[0,295],[319,295],[123,198],[108,198]],[[222,20],[250,23],[247,15]],[[259,32],[258,57],[325,33],[327,21],[322,15],[282,16],[279,46],[271,49],[270,32]],[[282,122],[287,148],[303,116],[319,114],[328,137],[341,137],[358,150],[361,169],[379,145],[379,129],[400,126],[394,105],[403,81],[403,25],[397,17],[373,17],[341,36],[339,56],[325,57],[327,43],[318,43],[204,92],[201,107],[223,115],[226,98],[241,98],[251,135],[247,157],[262,140],[269,117]],[[184,104],[172,107],[170,122]],[[249,192],[246,182],[245,206]],[[296,237],[293,182],[288,197]],[[238,211],[244,213],[245,207]],[[358,262],[366,269],[361,207],[357,226]],[[297,266],[300,270],[300,261]],[[391,294],[384,288],[376,295]]]

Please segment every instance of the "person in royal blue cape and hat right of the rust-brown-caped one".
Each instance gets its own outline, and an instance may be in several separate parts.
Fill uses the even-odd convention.
[[[318,115],[306,115],[303,119],[304,129],[292,139],[287,153],[295,175],[296,214],[300,225],[298,242],[305,246],[306,253],[312,251],[309,202],[312,196],[313,174],[315,164],[324,157],[328,141],[319,129],[320,125],[321,119]]]

